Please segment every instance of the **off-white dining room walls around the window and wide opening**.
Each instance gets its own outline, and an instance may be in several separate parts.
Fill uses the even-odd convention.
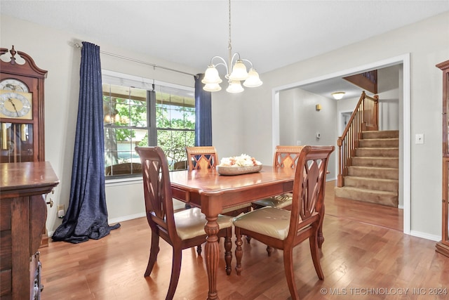
[[[68,205],[74,131],[79,91],[79,49],[73,41],[90,41],[102,51],[157,63],[196,74],[203,70],[152,58],[133,49],[112,48],[101,41],[51,30],[1,15],[1,47],[24,51],[38,67],[48,70],[45,85],[46,160],[60,178],[53,200]],[[27,32],[27,34],[18,34]],[[30,39],[29,37],[36,37]],[[292,37],[300,39],[300,37]],[[449,58],[449,13],[382,34],[337,51],[261,74],[264,84],[245,93],[213,94],[213,143],[219,156],[246,152],[262,162],[272,162],[273,90],[311,78],[410,53],[411,134],[424,133],[424,145],[411,145],[411,229],[415,235],[437,238],[441,234],[441,70],[435,65]],[[273,58],[276,59],[276,58]],[[102,55],[102,67],[161,81],[194,86],[192,77]],[[400,112],[401,113],[401,112]],[[402,120],[400,119],[400,123]],[[414,138],[412,138],[414,141]],[[264,145],[263,147],[261,145]],[[142,214],[139,183],[107,187],[109,221]],[[120,190],[123,193],[116,193]],[[126,192],[127,190],[130,193]],[[126,203],[123,212],[121,205]],[[60,220],[55,207],[48,209],[47,228]]]

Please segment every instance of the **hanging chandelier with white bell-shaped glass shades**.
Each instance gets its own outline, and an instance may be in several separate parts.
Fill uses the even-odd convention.
[[[229,0],[229,44],[228,44],[228,61],[221,56],[214,56],[210,59],[210,64],[206,72],[204,73],[204,78],[201,82],[204,84],[203,89],[205,91],[220,91],[222,88],[220,83],[222,79],[217,71],[218,65],[223,65],[226,68],[225,78],[228,81],[229,86],[226,91],[228,93],[240,93],[243,91],[243,86],[248,88],[253,88],[262,85],[260,81],[259,74],[253,68],[253,63],[250,60],[240,58],[238,52],[232,54],[232,44],[231,44],[231,0]],[[214,64],[214,61],[219,61]],[[231,66],[234,63],[234,67]],[[250,70],[246,70],[245,63],[250,65]],[[243,86],[241,86],[241,81],[243,81]]]

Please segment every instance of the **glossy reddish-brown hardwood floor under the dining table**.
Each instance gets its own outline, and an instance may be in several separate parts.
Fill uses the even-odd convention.
[[[449,258],[435,252],[436,242],[404,235],[401,210],[334,199],[334,186],[333,181],[326,185],[324,280],[316,276],[309,243],[295,249],[301,299],[449,299]],[[161,241],[153,273],[144,278],[150,234],[141,218],[121,222],[121,228],[101,240],[51,242],[41,249],[41,299],[165,299],[171,247]],[[235,270],[227,276],[220,260],[220,299],[290,299],[280,250],[268,257],[264,244],[245,242],[242,266],[241,276]],[[185,250],[174,299],[203,300],[207,289],[204,258],[193,248]]]

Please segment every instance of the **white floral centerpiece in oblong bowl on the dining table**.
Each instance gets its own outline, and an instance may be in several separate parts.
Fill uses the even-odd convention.
[[[217,166],[221,175],[240,175],[258,172],[262,169],[262,163],[254,157],[242,154],[234,157],[223,157]]]

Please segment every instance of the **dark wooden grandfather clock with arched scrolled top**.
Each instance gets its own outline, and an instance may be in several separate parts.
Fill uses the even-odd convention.
[[[43,83],[47,71],[37,67],[27,53],[15,51],[14,46],[9,51],[0,48],[1,56],[8,52],[11,60],[0,60],[0,162],[42,162]],[[18,63],[16,55],[25,63]]]

